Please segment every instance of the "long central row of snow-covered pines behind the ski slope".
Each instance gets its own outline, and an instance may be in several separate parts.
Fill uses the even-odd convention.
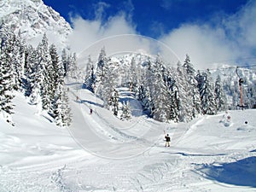
[[[166,67],[160,55],[143,62],[133,57],[127,67],[121,60],[107,57],[103,48],[96,67],[89,59],[84,84],[115,115],[119,111],[119,86],[134,92],[145,113],[162,122],[188,122],[199,114],[216,114],[227,108],[221,79],[213,82],[209,70],[196,72],[189,55],[177,67]]]

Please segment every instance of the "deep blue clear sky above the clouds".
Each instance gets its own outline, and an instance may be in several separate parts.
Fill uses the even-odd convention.
[[[44,0],[68,22],[76,15],[84,20],[101,19],[125,13],[137,32],[151,38],[172,31],[183,23],[206,22],[214,15],[235,14],[247,0]],[[99,18],[101,17],[101,18]]]

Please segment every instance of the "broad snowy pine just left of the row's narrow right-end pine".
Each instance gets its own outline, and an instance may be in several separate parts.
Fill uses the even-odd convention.
[[[217,105],[215,101],[214,84],[212,82],[212,77],[210,71],[200,73],[196,76],[198,82],[198,89],[201,96],[201,110],[203,114],[216,114]]]

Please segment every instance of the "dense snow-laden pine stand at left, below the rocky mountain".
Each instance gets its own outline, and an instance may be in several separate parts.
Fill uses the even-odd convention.
[[[0,113],[4,118],[12,121],[16,90],[24,93],[30,104],[49,113],[56,125],[70,125],[64,78],[73,75],[76,56],[63,50],[60,59],[55,44],[49,45],[45,34],[38,47],[33,48],[3,26],[0,45]]]

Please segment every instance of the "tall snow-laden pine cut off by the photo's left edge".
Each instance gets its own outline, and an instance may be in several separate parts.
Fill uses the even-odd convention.
[[[9,32],[0,29],[0,112],[11,123],[11,114],[14,113],[14,74],[12,68],[13,53]]]

